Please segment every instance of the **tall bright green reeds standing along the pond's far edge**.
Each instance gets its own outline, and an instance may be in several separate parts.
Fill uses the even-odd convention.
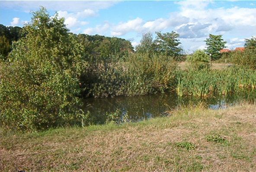
[[[210,97],[252,92],[256,89],[256,71],[243,68],[227,70],[179,71],[176,92],[179,96]]]

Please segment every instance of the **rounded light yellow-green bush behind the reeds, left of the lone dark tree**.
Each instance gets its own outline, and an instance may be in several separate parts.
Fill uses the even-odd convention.
[[[188,55],[187,60],[195,70],[208,69],[210,67],[210,56],[204,50],[196,50],[192,55]]]

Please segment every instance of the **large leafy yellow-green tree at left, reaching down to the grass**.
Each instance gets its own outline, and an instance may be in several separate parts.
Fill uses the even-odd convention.
[[[33,131],[80,123],[80,44],[64,19],[50,18],[44,8],[33,13],[24,31],[10,62],[1,64],[0,125]]]

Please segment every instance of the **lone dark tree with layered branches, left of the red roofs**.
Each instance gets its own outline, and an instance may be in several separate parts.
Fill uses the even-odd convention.
[[[221,58],[221,49],[224,49],[227,43],[223,40],[222,35],[212,35],[209,34],[209,38],[205,40],[208,46],[205,50],[208,55],[211,55],[211,60],[217,60]]]

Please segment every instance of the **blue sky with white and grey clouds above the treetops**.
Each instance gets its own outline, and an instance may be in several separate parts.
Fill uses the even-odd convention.
[[[65,18],[76,34],[100,34],[130,40],[135,47],[144,33],[179,34],[185,52],[205,49],[209,34],[223,35],[227,48],[256,36],[256,1],[0,1],[0,24],[30,22],[32,11],[44,6]]]

